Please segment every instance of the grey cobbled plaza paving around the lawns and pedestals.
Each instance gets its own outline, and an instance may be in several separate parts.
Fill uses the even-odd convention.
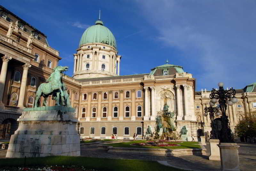
[[[185,170],[220,170],[220,161],[208,160],[210,155],[210,145],[207,145],[206,156],[158,156],[158,155],[146,155],[146,154],[124,154],[124,153],[108,153],[106,151],[97,150],[97,147],[83,148],[81,149],[81,155],[92,158],[108,158],[108,159],[139,159],[139,160],[153,160],[158,161],[161,164],[177,167]],[[238,143],[239,159],[241,171],[254,171],[256,165],[256,144]],[[0,158],[5,158],[7,150],[0,150]]]

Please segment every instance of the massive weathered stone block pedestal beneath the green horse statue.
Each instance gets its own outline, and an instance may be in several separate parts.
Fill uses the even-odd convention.
[[[73,108],[25,108],[11,136],[6,157],[80,156],[80,135]]]

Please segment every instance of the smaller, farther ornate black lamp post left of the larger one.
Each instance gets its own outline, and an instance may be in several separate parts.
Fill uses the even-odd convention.
[[[210,104],[211,105],[211,104]],[[214,104],[213,104],[214,105]],[[216,130],[215,130],[215,125],[213,123],[213,120],[214,120],[214,113],[216,113],[217,116],[220,116],[220,112],[218,112],[220,110],[219,107],[205,107],[204,108],[204,116],[207,116],[208,115],[208,112],[209,112],[209,115],[210,115],[210,119],[211,119],[211,134],[210,134],[210,139],[219,139],[218,138],[218,135],[216,133]]]

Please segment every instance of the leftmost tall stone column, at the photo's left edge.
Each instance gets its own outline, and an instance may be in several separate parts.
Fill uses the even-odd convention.
[[[11,59],[12,57],[8,55],[5,55],[2,57],[3,64],[2,64],[1,74],[0,74],[0,105],[2,106],[4,105],[2,100],[3,100],[4,87],[5,87],[5,81],[6,81],[7,67],[8,67],[8,62]]]

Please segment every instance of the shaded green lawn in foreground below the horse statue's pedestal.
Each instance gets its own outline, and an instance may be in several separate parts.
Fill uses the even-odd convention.
[[[88,169],[100,171],[182,171],[180,169],[167,167],[156,161],[132,160],[132,159],[101,159],[70,156],[49,156],[39,158],[27,158],[26,167],[29,166],[84,166]],[[0,159],[1,167],[24,166],[24,159]]]

